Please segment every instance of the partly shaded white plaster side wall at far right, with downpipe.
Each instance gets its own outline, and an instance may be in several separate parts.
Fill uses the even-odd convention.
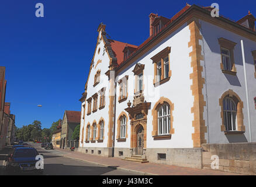
[[[209,122],[209,143],[229,143],[232,141],[249,141],[248,130],[248,117],[247,117],[247,102],[245,95],[245,81],[243,70],[243,59],[241,53],[241,39],[244,42],[245,53],[245,67],[247,71],[247,84],[248,84],[248,98],[250,106],[250,119],[251,119],[251,134],[252,141],[256,141],[256,110],[254,107],[253,98],[256,96],[256,79],[254,78],[254,65],[252,50],[256,50],[256,42],[249,40],[236,33],[232,33],[229,30],[223,29],[212,25],[211,23],[199,20],[202,26],[201,32],[203,34],[203,47],[205,54],[206,65],[206,84],[207,84],[207,103],[208,103],[208,122]],[[221,56],[220,45],[218,38],[223,37],[225,39],[236,42],[234,47],[234,61],[237,69],[237,75],[223,74],[220,70]],[[204,72],[203,72],[204,73]],[[204,86],[205,89],[205,86]],[[244,103],[244,135],[225,136],[223,131],[220,131],[220,125],[222,119],[220,117],[219,98],[224,92],[229,89],[233,89],[234,92],[240,96]],[[206,90],[205,90],[206,91]],[[206,98],[206,93],[204,92]],[[207,119],[207,112],[204,112],[204,119]],[[207,120],[206,120],[207,124]]]

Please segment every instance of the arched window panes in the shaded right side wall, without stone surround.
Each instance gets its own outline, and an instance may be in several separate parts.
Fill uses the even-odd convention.
[[[227,131],[237,130],[237,104],[232,98],[223,99],[224,126]]]

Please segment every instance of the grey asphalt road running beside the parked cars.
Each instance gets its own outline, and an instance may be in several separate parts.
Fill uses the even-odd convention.
[[[33,145],[34,148],[44,157],[43,175],[139,175],[136,172],[113,169],[90,162],[79,161],[64,157],[65,153],[58,150],[45,150],[39,145]],[[24,173],[23,175],[34,175],[33,173]]]

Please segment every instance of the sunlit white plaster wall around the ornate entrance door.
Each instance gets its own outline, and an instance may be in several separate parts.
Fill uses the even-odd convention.
[[[157,46],[153,47],[144,56],[134,61],[130,67],[124,70],[117,78],[120,79],[125,75],[129,75],[128,79],[128,94],[127,101],[122,103],[116,102],[116,124],[119,114],[127,108],[127,102],[133,101],[134,95],[134,74],[132,70],[136,63],[145,64],[144,68],[144,96],[147,102],[151,102],[151,108],[148,110],[147,116],[147,148],[189,148],[193,147],[192,142],[192,120],[193,114],[191,108],[193,106],[193,96],[191,91],[192,80],[189,79],[189,74],[192,73],[191,57],[189,53],[192,47],[188,47],[190,41],[190,30],[188,26],[181,26],[175,33],[169,35],[162,40]],[[154,64],[150,59],[155,54],[159,53],[165,47],[171,47],[170,54],[170,69],[172,71],[171,79],[164,84],[154,87]],[[119,85],[117,84],[117,100],[119,97]],[[152,137],[153,124],[151,111],[155,103],[161,96],[168,98],[174,103],[173,128],[175,133],[172,134],[170,140],[154,140]],[[127,113],[128,115],[128,113]],[[115,137],[115,147],[130,147],[130,121],[128,122],[128,138],[126,142],[117,142]],[[117,129],[117,127],[116,127]]]

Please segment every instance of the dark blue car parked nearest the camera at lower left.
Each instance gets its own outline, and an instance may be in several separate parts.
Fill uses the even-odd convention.
[[[43,169],[36,169],[36,156],[39,155],[33,147],[17,147],[6,159],[6,172],[16,174],[30,171],[42,173]]]

